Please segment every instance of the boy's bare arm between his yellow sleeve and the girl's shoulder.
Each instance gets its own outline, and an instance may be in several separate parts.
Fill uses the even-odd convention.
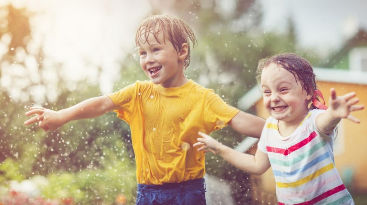
[[[264,128],[265,120],[253,114],[240,111],[228,122],[228,125],[242,135],[253,138],[260,138],[262,128]]]

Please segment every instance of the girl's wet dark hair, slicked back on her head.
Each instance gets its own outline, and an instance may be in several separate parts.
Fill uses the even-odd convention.
[[[271,63],[275,63],[292,73],[296,82],[301,83],[307,94],[313,95],[313,91],[317,89],[315,73],[313,73],[311,64],[294,53],[277,54],[261,59],[256,70],[257,83],[260,83],[262,70]],[[311,109],[316,109],[316,107],[311,105]]]

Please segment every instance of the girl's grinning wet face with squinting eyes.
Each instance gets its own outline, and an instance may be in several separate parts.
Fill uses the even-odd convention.
[[[264,67],[261,88],[265,110],[277,120],[300,123],[308,113],[307,105],[312,98],[302,88],[302,83],[276,63]]]

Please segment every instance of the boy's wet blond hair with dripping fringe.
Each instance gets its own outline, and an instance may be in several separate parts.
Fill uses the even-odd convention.
[[[186,69],[190,64],[190,41],[193,47],[197,44],[194,32],[185,22],[174,16],[150,15],[137,29],[137,33],[135,34],[136,46],[140,46],[141,43],[149,44],[147,39],[150,34],[153,34],[158,43],[161,43],[157,37],[157,34],[160,32],[163,32],[163,42],[167,38],[171,41],[177,52],[181,50],[183,43],[188,44],[188,55],[183,64],[183,69]]]

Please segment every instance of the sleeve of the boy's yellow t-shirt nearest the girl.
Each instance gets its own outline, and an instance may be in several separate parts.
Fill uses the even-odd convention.
[[[224,102],[213,90],[208,90],[203,112],[204,122],[208,130],[214,131],[224,128],[239,111],[239,109]]]

